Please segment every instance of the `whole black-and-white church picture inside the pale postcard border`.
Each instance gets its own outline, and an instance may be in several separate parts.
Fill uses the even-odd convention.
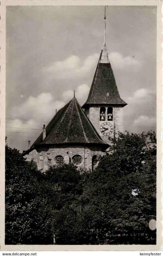
[[[5,245],[158,244],[157,12],[6,6]]]

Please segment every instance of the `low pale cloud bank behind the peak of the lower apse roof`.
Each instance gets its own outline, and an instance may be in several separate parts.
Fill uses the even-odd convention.
[[[76,87],[75,96],[80,104],[86,100],[88,91],[89,87],[87,84],[82,84]],[[60,99],[58,99],[57,96],[55,98],[51,93],[46,92],[39,94],[37,97],[29,96],[26,101],[13,108],[12,115],[27,120],[39,120],[39,122],[43,124],[54,116],[56,109],[59,110],[68,103],[68,101],[73,98],[73,94],[73,90],[64,91]],[[16,122],[19,122],[21,125],[20,120],[16,120]]]

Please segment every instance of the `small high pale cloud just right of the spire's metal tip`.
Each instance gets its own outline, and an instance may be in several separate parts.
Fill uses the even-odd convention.
[[[124,70],[126,68],[139,68],[141,63],[134,56],[123,57],[119,52],[111,52],[109,60],[114,68]]]

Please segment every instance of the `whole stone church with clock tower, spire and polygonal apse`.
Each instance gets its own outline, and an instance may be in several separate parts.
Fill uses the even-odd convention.
[[[34,160],[38,170],[45,172],[50,165],[72,163],[83,170],[93,170],[99,158],[110,146],[109,138],[121,131],[122,108],[106,47],[106,15],[104,45],[95,70],[87,101],[81,107],[74,97],[55,113],[52,120],[23,152],[26,160]]]

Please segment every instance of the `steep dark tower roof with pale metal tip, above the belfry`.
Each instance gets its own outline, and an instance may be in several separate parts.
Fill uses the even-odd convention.
[[[100,54],[88,99],[82,108],[87,107],[89,104],[127,105],[120,98],[105,43]]]

